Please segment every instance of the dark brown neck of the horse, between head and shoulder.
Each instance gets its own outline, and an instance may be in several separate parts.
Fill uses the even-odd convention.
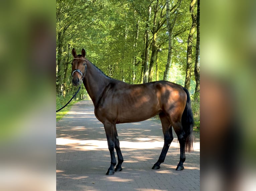
[[[87,75],[84,79],[84,85],[94,105],[98,103],[103,91],[109,82],[110,79],[107,76],[105,76],[93,64],[88,63]]]

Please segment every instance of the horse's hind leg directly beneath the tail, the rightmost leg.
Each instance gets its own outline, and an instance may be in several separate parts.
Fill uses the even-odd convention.
[[[173,127],[175,133],[177,134],[179,145],[180,145],[180,160],[179,160],[176,170],[183,170],[184,169],[183,163],[186,159],[186,157],[185,157],[185,138],[184,138],[185,132],[182,130],[181,121],[172,122],[172,127]]]

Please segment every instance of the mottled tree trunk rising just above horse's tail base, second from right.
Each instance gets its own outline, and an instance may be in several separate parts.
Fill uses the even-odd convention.
[[[197,15],[194,13],[196,0],[191,0],[189,11],[192,18],[192,25],[191,29],[187,38],[187,66],[186,66],[186,78],[185,78],[185,88],[188,90],[190,88],[190,80],[191,80],[191,73],[192,73],[192,48],[193,48],[193,38],[194,33],[196,31],[197,25]]]

